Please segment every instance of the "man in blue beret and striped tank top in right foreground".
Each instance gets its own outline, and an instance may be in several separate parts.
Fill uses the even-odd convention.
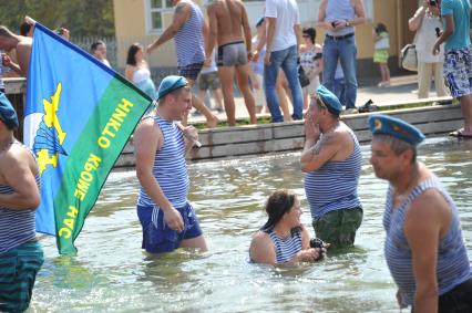
[[[390,182],[383,228],[400,307],[472,312],[472,272],[458,209],[438,177],[417,160],[423,134],[387,115],[369,117],[376,176]]]

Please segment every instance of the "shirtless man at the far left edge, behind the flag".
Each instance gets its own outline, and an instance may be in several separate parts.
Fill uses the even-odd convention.
[[[12,33],[7,27],[0,25],[0,50],[10,52],[17,50],[18,64],[13,63],[7,54],[1,55],[4,66],[12,69],[18,75],[28,77],[32,39]]]

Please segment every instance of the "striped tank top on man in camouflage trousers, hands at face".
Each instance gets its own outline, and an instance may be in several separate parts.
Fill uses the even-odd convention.
[[[355,144],[351,155],[346,160],[330,160],[305,176],[305,194],[314,220],[330,211],[361,207],[357,187],[362,155],[355,133],[350,128],[348,132]]]

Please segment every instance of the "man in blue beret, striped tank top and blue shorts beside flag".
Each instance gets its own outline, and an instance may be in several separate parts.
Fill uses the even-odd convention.
[[[188,82],[167,76],[158,87],[158,104],[137,125],[133,143],[141,184],[137,216],[143,228],[142,248],[151,253],[177,248],[206,250],[194,208],[187,199],[189,179],[185,154],[196,143],[193,126],[176,124],[192,108]]]

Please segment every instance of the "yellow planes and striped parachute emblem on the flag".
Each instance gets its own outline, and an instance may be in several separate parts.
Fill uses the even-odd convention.
[[[48,167],[58,167],[59,155],[68,155],[62,144],[64,143],[66,133],[62,131],[61,123],[58,118],[59,103],[61,100],[62,84],[58,84],[58,88],[51,96],[51,101],[42,100],[44,106],[44,115],[39,125],[34,137],[33,152],[38,156],[38,165],[40,175]]]

